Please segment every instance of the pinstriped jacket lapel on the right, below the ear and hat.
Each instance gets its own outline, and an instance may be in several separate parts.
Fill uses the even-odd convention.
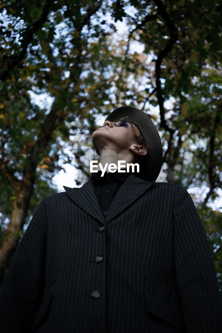
[[[120,214],[124,209],[129,207],[140,195],[142,195],[150,186],[155,183],[153,181],[145,181],[131,175],[120,187],[106,215],[106,223],[116,215]]]

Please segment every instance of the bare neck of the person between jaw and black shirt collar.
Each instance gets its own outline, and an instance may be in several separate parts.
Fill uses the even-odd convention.
[[[118,166],[118,161],[124,161],[121,163],[121,165],[125,165],[128,163],[133,163],[133,154],[130,154],[129,150],[120,150],[117,149],[103,149],[100,152],[100,164],[102,165],[102,168],[104,169],[106,164],[110,165],[115,164]],[[108,171],[108,165],[104,169],[105,171]],[[123,167],[124,168],[124,167]],[[102,170],[100,166],[98,166],[98,170]]]

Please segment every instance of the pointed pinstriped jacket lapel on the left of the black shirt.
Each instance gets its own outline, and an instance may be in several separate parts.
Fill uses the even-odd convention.
[[[102,214],[101,208],[99,206],[93,184],[89,179],[87,183],[85,183],[80,188],[71,188],[67,186],[63,186],[66,193],[70,196],[70,198],[87,214],[96,218],[101,223],[105,224],[105,219]]]

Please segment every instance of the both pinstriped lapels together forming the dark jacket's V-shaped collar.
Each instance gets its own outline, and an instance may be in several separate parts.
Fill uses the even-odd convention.
[[[115,216],[120,214],[124,209],[130,206],[139,196],[141,196],[153,181],[145,181],[143,179],[130,175],[124,184],[120,187],[106,215],[106,219],[101,211],[97,197],[94,192],[93,184],[89,179],[80,188],[70,188],[63,186],[69,197],[87,214],[96,218],[101,223],[106,224]]]

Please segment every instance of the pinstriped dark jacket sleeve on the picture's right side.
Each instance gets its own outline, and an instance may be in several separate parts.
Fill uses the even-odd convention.
[[[222,301],[209,242],[193,200],[183,187],[174,204],[174,250],[185,332],[220,332]]]

